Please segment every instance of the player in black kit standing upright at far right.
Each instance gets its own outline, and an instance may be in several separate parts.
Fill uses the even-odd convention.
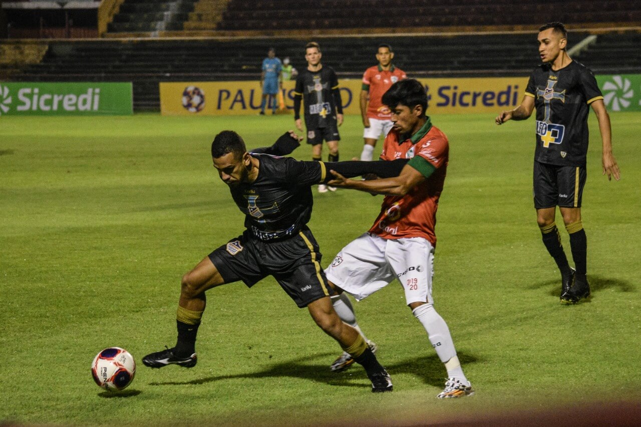
[[[573,61],[565,51],[567,31],[561,22],[539,28],[538,52],[543,62],[531,74],[519,107],[504,111],[496,124],[527,119],[537,108],[537,148],[534,162],[534,205],[547,251],[562,276],[561,301],[574,304],[590,295],[587,238],[581,222],[581,195],[585,185],[589,106],[596,113],[603,142],[601,162],[608,180],[620,179],[612,154],[610,117],[594,74]],[[559,206],[576,271],[569,266],[554,223]]]

